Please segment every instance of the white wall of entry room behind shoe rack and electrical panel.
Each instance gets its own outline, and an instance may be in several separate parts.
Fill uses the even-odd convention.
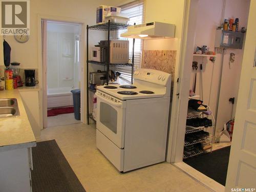
[[[197,15],[196,25],[196,37],[195,48],[206,45],[210,47],[210,51],[214,51],[215,33],[217,27],[220,25],[221,12],[222,12],[223,0],[199,0],[200,10]],[[224,18],[239,18],[239,28],[246,27],[247,17],[249,11],[249,0],[227,0],[225,6]],[[239,29],[239,30],[240,30]],[[234,61],[231,69],[229,69],[229,57],[230,53],[236,54],[236,60]],[[217,96],[220,94],[219,112],[217,129],[221,130],[223,123],[227,122],[231,117],[232,105],[228,99],[235,97],[237,99],[240,71],[242,67],[243,50],[228,49],[224,56],[223,74],[221,74],[221,60],[222,55],[217,54],[215,63],[212,63],[207,58],[202,60],[202,57],[194,57],[195,61],[198,61],[198,65],[203,62],[203,101],[205,104],[209,104],[211,110],[216,116]],[[212,76],[212,70],[214,70]],[[221,91],[218,93],[218,87],[220,77],[222,75]],[[210,81],[212,76],[212,89],[210,94]],[[194,73],[191,74],[190,88],[192,89]],[[199,94],[199,79],[200,70],[197,73],[197,89],[196,93]],[[234,109],[236,108],[236,103]],[[234,113],[233,113],[234,114]]]

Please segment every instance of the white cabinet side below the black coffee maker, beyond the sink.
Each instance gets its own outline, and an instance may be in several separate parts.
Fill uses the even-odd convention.
[[[23,90],[19,91],[22,97],[23,104],[32,127],[36,140],[40,140],[40,107],[39,107],[39,95],[35,90]]]

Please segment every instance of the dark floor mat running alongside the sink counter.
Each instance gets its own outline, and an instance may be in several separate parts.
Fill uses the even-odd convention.
[[[32,147],[33,192],[85,192],[55,140]]]

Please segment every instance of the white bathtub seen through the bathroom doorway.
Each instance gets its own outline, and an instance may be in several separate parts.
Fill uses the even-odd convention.
[[[72,88],[48,89],[47,90],[47,108],[57,108],[60,106],[72,106],[73,96],[70,91],[73,89]]]

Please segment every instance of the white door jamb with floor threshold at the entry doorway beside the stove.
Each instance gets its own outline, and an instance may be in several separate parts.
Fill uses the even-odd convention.
[[[183,147],[185,137],[185,126],[187,116],[187,104],[191,74],[191,63],[193,61],[197,10],[199,0],[185,0],[183,29],[181,38],[181,54],[179,66],[179,83],[177,83],[177,91],[179,99],[176,105],[172,106],[172,117],[170,121],[170,133],[167,151],[167,162],[173,163],[176,167],[183,170],[190,177],[193,177],[205,187],[214,191],[224,191],[224,186],[198,170],[190,167],[183,162]]]

